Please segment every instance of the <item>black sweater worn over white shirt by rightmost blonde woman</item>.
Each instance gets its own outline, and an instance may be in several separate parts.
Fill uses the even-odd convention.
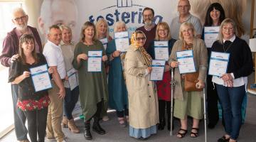
[[[227,72],[233,72],[235,79],[250,75],[253,70],[252,53],[245,40],[236,36],[229,48],[223,46],[223,44],[216,40],[211,50],[220,53],[230,53]]]

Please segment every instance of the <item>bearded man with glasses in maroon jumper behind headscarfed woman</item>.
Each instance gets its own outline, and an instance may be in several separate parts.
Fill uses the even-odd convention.
[[[143,31],[146,35],[146,43],[144,45],[144,48],[147,50],[149,47],[149,43],[154,40],[156,36],[156,24],[154,24],[154,10],[146,7],[142,11],[144,26],[139,27],[136,29],[136,31]]]

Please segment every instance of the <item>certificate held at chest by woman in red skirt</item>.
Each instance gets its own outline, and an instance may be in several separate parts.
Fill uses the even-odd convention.
[[[154,41],[154,53],[156,60],[169,59],[169,46],[168,41]]]

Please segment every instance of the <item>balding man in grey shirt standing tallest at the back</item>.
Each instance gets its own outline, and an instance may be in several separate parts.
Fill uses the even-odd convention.
[[[203,27],[201,25],[199,18],[197,18],[197,17],[191,15],[191,13],[189,13],[190,9],[191,9],[191,5],[188,0],[178,1],[179,16],[177,16],[176,18],[174,18],[171,21],[171,26],[170,26],[172,38],[178,40],[178,33],[180,30],[179,28],[181,26],[181,23],[184,23],[184,22],[192,23],[196,29],[196,36],[198,38],[201,38],[201,34],[203,32]]]

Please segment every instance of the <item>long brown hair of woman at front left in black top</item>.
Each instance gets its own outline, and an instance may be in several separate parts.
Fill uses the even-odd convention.
[[[22,48],[22,43],[26,43],[26,42],[29,42],[29,41],[33,41],[33,45],[34,45],[34,48],[33,48],[33,51],[32,51],[32,56],[33,58],[36,60],[36,63],[38,62],[38,57],[36,55],[36,44],[35,44],[35,38],[33,37],[33,35],[31,34],[23,34],[21,36],[21,39],[19,41],[19,48],[18,48],[18,55],[21,59],[21,62],[23,63],[23,65],[26,64],[26,56],[23,52],[23,48]]]

